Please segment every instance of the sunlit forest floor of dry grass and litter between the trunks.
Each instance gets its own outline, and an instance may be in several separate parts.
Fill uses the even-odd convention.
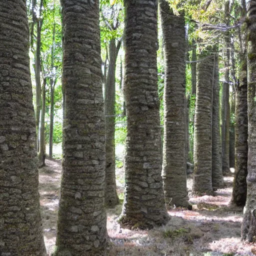
[[[55,244],[60,175],[59,160],[46,159],[46,166],[39,169],[42,225],[48,255],[53,251]],[[121,198],[124,189],[123,168],[116,170],[116,178]],[[107,231],[111,241],[107,255],[256,255],[255,244],[240,241],[242,208],[228,205],[232,179],[232,176],[225,177],[225,188],[217,190],[215,196],[190,196],[192,210],[173,207],[168,211],[171,216],[168,223],[151,230],[120,228],[117,222],[121,212],[120,200],[119,205],[107,210]],[[188,194],[191,194],[192,176],[188,176],[187,184]]]

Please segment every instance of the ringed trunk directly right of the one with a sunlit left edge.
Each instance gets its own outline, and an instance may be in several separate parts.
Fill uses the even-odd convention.
[[[207,54],[207,53],[206,53]],[[199,58],[205,57],[202,52]],[[211,119],[214,55],[196,65],[193,193],[211,194]]]

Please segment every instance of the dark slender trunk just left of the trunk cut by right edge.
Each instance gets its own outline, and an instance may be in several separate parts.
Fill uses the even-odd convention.
[[[246,15],[245,0],[241,0],[241,15]],[[243,27],[246,30],[246,25]],[[246,202],[246,176],[248,159],[248,116],[247,116],[247,47],[246,35],[241,37],[239,83],[235,90],[235,169],[231,203],[244,206]]]

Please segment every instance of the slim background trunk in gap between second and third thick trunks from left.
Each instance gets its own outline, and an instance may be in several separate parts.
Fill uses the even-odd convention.
[[[119,43],[118,43],[119,44]],[[119,203],[115,184],[115,67],[119,46],[115,39],[109,42],[108,70],[105,84],[105,115],[106,115],[106,205],[113,207]]]

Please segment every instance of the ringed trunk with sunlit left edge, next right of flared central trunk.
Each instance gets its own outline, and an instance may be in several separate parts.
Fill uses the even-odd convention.
[[[163,193],[167,206],[188,207],[185,134],[185,21],[160,0],[164,43]]]

